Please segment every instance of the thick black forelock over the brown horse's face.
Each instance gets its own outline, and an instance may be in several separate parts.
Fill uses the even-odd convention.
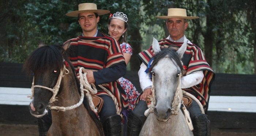
[[[28,73],[41,74],[50,69],[63,68],[63,48],[61,45],[42,46],[34,50],[26,59],[23,69]]]

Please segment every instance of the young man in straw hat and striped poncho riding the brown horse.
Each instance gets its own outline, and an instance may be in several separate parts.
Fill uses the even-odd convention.
[[[79,4],[78,9],[78,11],[66,14],[78,17],[78,23],[83,30],[82,35],[67,41],[70,42],[67,49],[69,58],[78,75],[80,67],[86,69],[89,83],[96,85],[98,90],[96,95],[104,101],[98,115],[105,136],[120,136],[122,119],[117,112],[128,107],[126,94],[118,83],[118,78],[126,73],[124,56],[117,41],[97,29],[99,15],[107,14],[109,11],[97,9],[97,5],[94,3]],[[98,85],[104,86],[116,97],[119,111],[117,111],[113,99]],[[41,122],[45,121],[41,120]],[[42,132],[47,133],[48,129],[44,129]]]

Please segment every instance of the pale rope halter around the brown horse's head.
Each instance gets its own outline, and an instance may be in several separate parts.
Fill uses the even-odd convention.
[[[33,82],[32,82],[32,86],[31,86],[31,92],[32,92],[32,94],[31,94],[31,96],[28,96],[28,97],[29,97],[30,99],[33,98],[33,95],[34,95],[34,88],[36,88],[36,87],[37,87],[37,88],[44,88],[44,89],[48,89],[48,90],[50,90],[51,92],[53,92],[53,96],[52,96],[52,98],[50,98],[49,105],[48,105],[48,107],[50,108],[50,110],[59,110],[59,111],[61,110],[61,111],[65,112],[66,110],[71,110],[71,109],[74,109],[74,108],[80,106],[80,105],[83,103],[83,98],[84,98],[84,92],[83,92],[83,91],[81,91],[81,97],[80,97],[79,102],[78,102],[77,104],[75,104],[75,105],[68,106],[68,107],[63,107],[63,106],[50,106],[50,104],[51,104],[52,102],[58,101],[58,100],[57,100],[58,97],[56,97],[56,95],[57,95],[57,93],[59,92],[61,79],[62,79],[62,77],[65,76],[65,75],[63,75],[63,72],[64,72],[64,71],[65,71],[65,74],[68,74],[68,73],[69,73],[69,71],[68,71],[68,69],[65,67],[65,65],[64,65],[64,69],[61,69],[59,78],[58,78],[58,80],[57,80],[56,85],[53,87],[53,89],[52,89],[52,88],[48,88],[48,87],[46,87],[46,86],[34,85],[34,79],[35,79],[35,77],[34,77],[34,78],[33,78]],[[40,115],[39,115],[39,116],[40,116]]]

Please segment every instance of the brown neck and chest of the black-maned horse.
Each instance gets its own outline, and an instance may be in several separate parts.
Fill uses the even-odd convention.
[[[52,105],[66,107],[77,104],[80,100],[80,95],[74,76],[72,74],[65,75],[61,84],[62,90],[57,95],[58,101],[53,102]],[[64,134],[67,136],[99,136],[98,128],[83,103],[74,109],[64,112],[58,110],[51,110],[51,112],[52,126],[48,131],[48,133],[51,133],[50,136],[63,136]]]

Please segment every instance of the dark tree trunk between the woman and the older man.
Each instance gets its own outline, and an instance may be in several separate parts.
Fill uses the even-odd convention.
[[[130,59],[130,67],[132,71],[138,71],[140,69],[140,61],[137,55],[142,51],[142,37],[139,29],[128,31],[128,35],[131,35],[129,44],[132,47],[132,57]]]

